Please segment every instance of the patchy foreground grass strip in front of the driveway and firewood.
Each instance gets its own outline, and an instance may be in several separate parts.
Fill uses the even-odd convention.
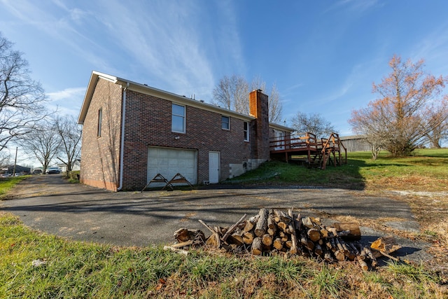
[[[232,256],[70,242],[0,214],[0,298],[444,298],[437,272],[391,263]],[[36,260],[41,262],[36,265]],[[34,263],[33,263],[34,262]],[[446,283],[446,281],[445,281]]]

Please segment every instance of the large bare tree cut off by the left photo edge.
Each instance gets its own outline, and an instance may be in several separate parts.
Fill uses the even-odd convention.
[[[0,151],[47,115],[41,84],[29,77],[27,60],[12,47],[0,33]]]

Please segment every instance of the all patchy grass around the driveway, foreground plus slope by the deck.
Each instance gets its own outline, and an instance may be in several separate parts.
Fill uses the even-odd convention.
[[[414,191],[394,196],[409,203],[421,225],[420,235],[401,232],[402,237],[431,244],[435,258],[424,265],[388,263],[363,272],[352,262],[325,264],[304,257],[216,251],[182,256],[160,246],[71,242],[31,230],[18,217],[0,212],[0,298],[448,298],[447,162],[446,149],[400,159],[381,153],[376,161],[370,153],[350,153],[347,165],[325,171],[269,162],[232,180],[363,189],[387,196],[390,190]],[[9,190],[2,189],[3,183],[21,179],[0,181],[0,190]],[[363,225],[382,230],[381,221],[391,219]],[[33,265],[36,261],[41,265]]]

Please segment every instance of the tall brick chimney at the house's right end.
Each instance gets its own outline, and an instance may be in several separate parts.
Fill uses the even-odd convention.
[[[269,106],[267,95],[261,90],[249,93],[249,113],[256,119],[252,123],[255,136],[251,137],[254,159],[269,160]]]

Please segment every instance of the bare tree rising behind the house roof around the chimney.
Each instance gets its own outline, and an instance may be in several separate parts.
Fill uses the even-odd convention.
[[[250,87],[250,88],[249,88]],[[242,76],[224,76],[213,90],[213,104],[222,106],[225,109],[237,111],[239,113],[249,113],[248,93],[251,90],[266,90],[266,83],[257,76],[253,78],[251,84]],[[279,123],[281,121],[282,106],[279,91],[276,85],[272,85],[269,94],[269,122]]]

